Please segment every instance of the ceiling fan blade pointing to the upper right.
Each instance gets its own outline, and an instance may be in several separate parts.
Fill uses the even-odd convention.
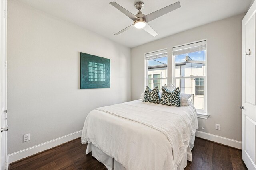
[[[177,8],[180,8],[180,2],[176,2],[174,4],[171,4],[169,6],[166,6],[166,7],[162,8],[160,10],[152,12],[152,13],[144,16],[144,18],[147,22],[150,22],[150,21],[152,21],[152,20],[154,20],[154,19],[156,19],[160,16],[163,16],[164,14],[167,14],[167,13],[173,11],[173,10],[176,10]]]

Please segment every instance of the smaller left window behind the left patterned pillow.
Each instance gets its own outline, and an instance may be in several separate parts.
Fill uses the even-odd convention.
[[[146,86],[159,90],[167,83],[167,50],[146,54]]]

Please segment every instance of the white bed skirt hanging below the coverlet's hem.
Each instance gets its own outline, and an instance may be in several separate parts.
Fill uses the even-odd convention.
[[[184,153],[184,156],[178,166],[178,170],[184,170],[187,166],[187,160],[192,161],[192,153],[191,150],[194,147],[195,134],[191,137],[189,146],[187,147],[187,151]],[[92,143],[87,144],[86,154],[92,152],[92,156],[100,161],[102,164],[108,168],[108,170],[126,170],[122,164],[117,162],[114,158],[105,154],[98,147],[92,145]]]

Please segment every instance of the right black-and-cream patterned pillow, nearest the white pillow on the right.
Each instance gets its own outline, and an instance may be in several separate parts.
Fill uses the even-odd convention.
[[[173,91],[168,90],[167,88],[162,87],[162,96],[160,104],[168,106],[180,106],[180,89],[177,87]]]

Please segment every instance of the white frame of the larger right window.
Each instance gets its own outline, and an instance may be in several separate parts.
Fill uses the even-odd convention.
[[[188,46],[187,48],[189,48],[189,45],[193,45],[193,44],[196,44],[198,43],[198,45],[201,44],[201,42],[205,41],[205,44],[206,44],[206,53],[205,53],[205,76],[189,76],[189,77],[175,77],[175,55],[173,55],[173,51],[174,51],[174,48],[177,48],[177,47],[182,47],[182,46]],[[186,44],[183,44],[183,45],[177,45],[177,46],[174,46],[172,47],[172,84],[174,84],[174,86],[176,86],[176,79],[186,79],[186,78],[193,78],[193,79],[196,79],[196,78],[204,78],[204,109],[196,109],[196,111],[200,114],[200,115],[207,115],[206,117],[201,117],[201,118],[204,118],[204,119],[207,119],[207,117],[209,116],[207,114],[207,49],[208,49],[208,46],[207,46],[207,39],[202,39],[200,41],[194,41],[194,42],[191,42],[191,43],[186,43]],[[177,51],[177,50],[175,50]],[[196,81],[194,81],[194,86],[196,84]],[[195,91],[194,91],[194,96],[198,96],[198,95],[195,95],[196,94],[196,88],[195,88]]]

